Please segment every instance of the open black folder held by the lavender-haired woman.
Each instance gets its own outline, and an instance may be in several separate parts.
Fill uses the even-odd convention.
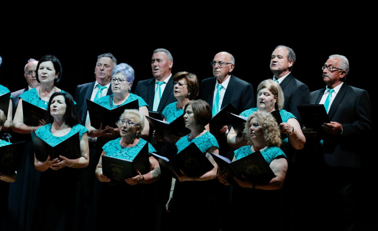
[[[107,125],[116,128],[117,126],[115,123],[119,120],[119,117],[125,109],[139,109],[137,99],[111,110],[94,103],[89,99],[86,99],[86,103],[88,106],[90,125],[94,128],[99,128],[101,123],[102,128],[105,128]]]

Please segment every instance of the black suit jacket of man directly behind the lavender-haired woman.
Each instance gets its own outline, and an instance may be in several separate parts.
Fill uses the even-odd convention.
[[[93,91],[95,83],[96,81],[78,85],[76,87],[75,95],[73,97],[73,100],[76,102],[76,111],[79,117],[79,122],[83,126],[85,126],[85,119],[88,112],[86,99],[90,99],[90,97],[92,96],[92,91]],[[106,95],[111,95],[112,93],[113,92],[111,91],[111,85],[110,85]]]

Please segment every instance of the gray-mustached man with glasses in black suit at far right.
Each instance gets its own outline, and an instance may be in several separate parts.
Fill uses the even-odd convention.
[[[312,163],[312,169],[306,166],[303,170],[312,173],[306,176],[306,182],[312,182],[306,193],[314,194],[304,197],[314,204],[306,208],[309,213],[302,213],[314,219],[305,223],[318,224],[317,230],[357,230],[357,199],[361,200],[357,190],[367,189],[371,183],[361,184],[363,178],[360,178],[361,158],[367,151],[364,147],[368,146],[367,139],[371,135],[371,101],[366,90],[345,82],[349,72],[345,56],[329,56],[322,69],[326,87],[311,92],[310,104],[328,105],[325,107],[331,122],[322,125],[324,137],[317,136],[313,129],[303,128],[306,154],[314,157],[307,162]],[[331,100],[327,100],[329,96]],[[369,157],[369,161],[372,160],[373,157]],[[362,196],[366,197],[367,192]]]

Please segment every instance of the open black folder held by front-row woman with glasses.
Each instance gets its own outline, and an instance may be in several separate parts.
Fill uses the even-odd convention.
[[[135,177],[136,170],[143,175],[150,171],[148,143],[130,161],[102,155],[102,173],[114,184],[126,184],[127,178]]]

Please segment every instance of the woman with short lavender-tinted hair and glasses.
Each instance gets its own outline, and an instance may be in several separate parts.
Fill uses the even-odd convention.
[[[127,63],[120,63],[116,65],[111,72],[111,90],[113,94],[105,95],[94,102],[111,110],[113,108],[130,103],[134,100],[139,102],[139,111],[148,116],[148,105],[138,95],[131,93],[131,86],[134,82],[135,75],[134,69]],[[116,123],[116,121],[114,121]],[[90,118],[86,125],[89,130],[89,137],[107,137],[115,138],[119,135],[119,130],[107,126],[106,128],[94,128],[90,125]],[[150,127],[147,119],[145,118],[145,126],[143,128],[143,137],[148,136]]]

